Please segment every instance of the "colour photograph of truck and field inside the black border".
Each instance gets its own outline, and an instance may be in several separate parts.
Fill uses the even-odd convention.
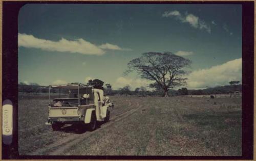
[[[26,3],[18,155],[242,157],[243,12],[239,3]]]

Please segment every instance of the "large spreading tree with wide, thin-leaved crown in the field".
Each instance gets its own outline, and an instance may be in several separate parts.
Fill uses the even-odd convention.
[[[186,84],[187,71],[184,69],[190,64],[190,60],[172,52],[146,52],[127,64],[125,74],[136,71],[141,78],[154,82],[150,87],[162,89],[163,96],[168,96],[168,89]]]

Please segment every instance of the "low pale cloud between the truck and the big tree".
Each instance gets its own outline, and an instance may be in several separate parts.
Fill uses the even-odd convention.
[[[140,78],[132,79],[132,78],[125,78],[121,76],[116,79],[116,82],[114,85],[116,89],[129,85],[134,90],[137,87],[141,87],[141,86],[146,87],[149,84],[150,82],[146,79],[140,79]]]

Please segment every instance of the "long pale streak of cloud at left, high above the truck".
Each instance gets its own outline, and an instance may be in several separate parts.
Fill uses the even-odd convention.
[[[103,55],[105,53],[103,49],[123,50],[119,46],[110,43],[97,46],[83,39],[72,41],[62,38],[59,41],[51,41],[20,33],[18,33],[18,46],[40,48],[49,51],[81,53],[84,55]]]

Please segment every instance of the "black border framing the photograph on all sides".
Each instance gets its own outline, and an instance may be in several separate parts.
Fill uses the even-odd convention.
[[[27,156],[18,154],[18,11],[25,4],[240,4],[242,5],[242,156]],[[3,1],[2,101],[13,103],[13,142],[3,159],[253,159],[254,2],[5,2]]]

